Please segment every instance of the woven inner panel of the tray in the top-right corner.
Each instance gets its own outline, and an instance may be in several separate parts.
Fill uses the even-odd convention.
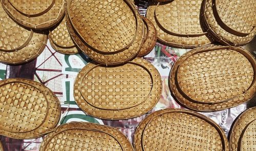
[[[216,8],[222,21],[233,30],[249,33],[256,26],[256,1],[220,1]]]

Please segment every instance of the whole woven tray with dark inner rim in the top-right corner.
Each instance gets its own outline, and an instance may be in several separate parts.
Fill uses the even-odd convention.
[[[246,45],[256,34],[254,0],[203,0],[201,13],[205,31],[223,45]]]

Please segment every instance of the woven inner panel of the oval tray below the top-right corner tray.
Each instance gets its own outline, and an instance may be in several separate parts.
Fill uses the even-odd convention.
[[[242,95],[251,86],[253,74],[244,55],[223,49],[187,57],[179,65],[177,80],[190,98],[212,103]]]

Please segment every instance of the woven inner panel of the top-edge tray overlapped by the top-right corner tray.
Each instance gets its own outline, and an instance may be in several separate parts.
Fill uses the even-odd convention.
[[[173,1],[160,3],[155,18],[164,29],[179,34],[201,34],[200,7],[202,1]]]

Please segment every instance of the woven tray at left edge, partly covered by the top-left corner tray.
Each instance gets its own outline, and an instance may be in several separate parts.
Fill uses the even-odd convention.
[[[0,62],[26,63],[35,59],[45,49],[47,35],[20,27],[6,14],[2,6],[0,18]]]

